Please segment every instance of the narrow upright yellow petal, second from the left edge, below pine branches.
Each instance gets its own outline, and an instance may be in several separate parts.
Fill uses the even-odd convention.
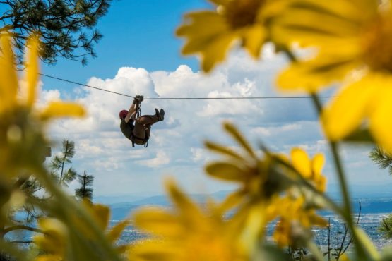
[[[28,84],[27,105],[32,107],[36,99],[37,81],[38,81],[38,43],[37,35],[32,35],[28,39],[28,51],[26,61],[26,82]]]

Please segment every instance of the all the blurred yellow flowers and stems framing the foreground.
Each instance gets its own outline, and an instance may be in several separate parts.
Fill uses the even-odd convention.
[[[392,7],[376,0],[210,0],[214,10],[185,16],[177,35],[186,38],[184,54],[200,54],[201,67],[212,71],[226,52],[240,44],[259,58],[264,43],[286,54],[290,65],[277,78],[281,90],[307,92],[319,112],[333,155],[343,204],[325,195],[322,154],[309,156],[301,148],[289,155],[272,152],[260,143],[252,146],[231,123],[225,131],[237,147],[207,141],[220,159],[206,165],[206,173],[237,189],[222,202],[198,205],[177,186],[166,183],[173,206],[138,210],[133,225],[148,237],[129,245],[116,243],[129,221],[108,228],[109,208],[66,195],[42,166],[49,145],[45,127],[59,116],[83,116],[77,104],[53,102],[35,108],[37,37],[30,38],[27,78],[18,89],[9,36],[1,37],[0,68],[0,223],[12,226],[8,214],[30,202],[47,217],[38,221],[34,246],[17,248],[6,240],[0,248],[17,260],[290,260],[287,246],[300,256],[324,260],[312,240],[313,226],[328,222],[317,214],[330,210],[345,221],[350,233],[350,255],[336,251],[340,260],[391,260],[392,250],[376,250],[353,221],[348,184],[338,153],[340,142],[376,142],[392,151],[388,136],[392,110]],[[339,48],[336,48],[336,47]],[[295,56],[295,47],[311,56]],[[316,47],[316,48],[314,48]],[[323,106],[318,92],[341,84],[338,95]],[[19,90],[24,90],[18,94]],[[31,154],[31,150],[37,154]],[[32,175],[53,195],[52,202],[37,202],[14,186]],[[278,221],[273,238],[266,240],[266,225]],[[329,251],[329,250],[328,250]]]

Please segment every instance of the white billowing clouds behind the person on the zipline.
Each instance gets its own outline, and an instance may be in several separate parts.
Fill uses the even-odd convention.
[[[109,193],[106,186],[114,184],[116,178],[121,178],[115,184],[117,192],[130,187],[136,191],[160,190],[161,182],[157,179],[167,173],[181,173],[187,181],[204,182],[203,163],[215,156],[206,153],[203,140],[237,146],[222,131],[222,121],[239,126],[255,148],[263,142],[276,152],[288,153],[295,146],[306,148],[309,154],[327,152],[317,115],[307,99],[148,99],[278,97],[274,77],[284,64],[282,56],[266,47],[263,61],[253,61],[242,51],[234,52],[228,63],[208,75],[186,65],[174,71],[153,72],[122,67],[107,79],[92,75],[87,85],[126,95],[144,95],[147,99],[142,103],[142,114],[154,114],[154,108],[165,109],[165,121],[152,126],[148,147],[132,147],[119,130],[118,113],[129,109],[132,98],[88,87],[77,87],[74,92],[88,116],[83,120],[57,121],[50,133],[53,140],[69,138],[76,142],[76,164],[96,175],[96,191],[105,193]],[[40,99],[44,103],[63,98],[61,95],[64,94],[59,90],[45,88]],[[56,150],[59,146],[54,146],[54,153]],[[355,162],[363,157],[353,159],[353,166],[360,166]],[[329,173],[333,168],[328,164],[329,158]]]

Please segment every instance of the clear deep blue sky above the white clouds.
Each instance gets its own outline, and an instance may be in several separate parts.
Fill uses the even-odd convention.
[[[112,77],[120,66],[173,71],[179,64],[186,63],[197,69],[194,57],[180,55],[182,40],[174,37],[174,31],[186,11],[208,6],[210,4],[202,0],[114,0],[97,25],[104,35],[95,44],[97,58],[90,58],[88,66],[59,59],[55,66],[44,66],[43,71],[85,81],[91,75]]]

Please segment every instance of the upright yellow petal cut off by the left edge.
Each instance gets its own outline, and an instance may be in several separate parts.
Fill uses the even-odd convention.
[[[18,78],[8,33],[0,32],[0,111],[16,104]]]

